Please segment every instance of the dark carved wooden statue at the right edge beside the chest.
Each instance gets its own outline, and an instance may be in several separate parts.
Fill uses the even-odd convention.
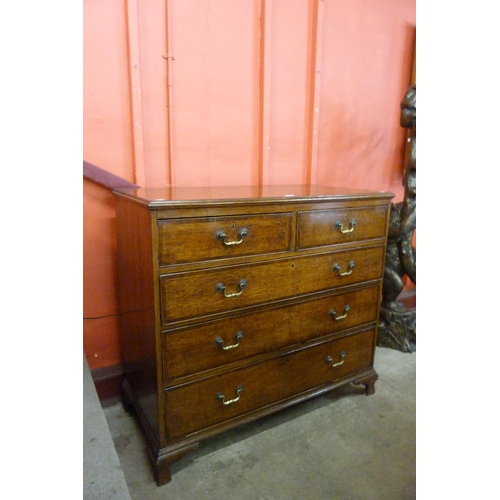
[[[401,102],[400,124],[408,129],[408,155],[403,178],[404,199],[392,204],[382,289],[377,345],[403,352],[416,350],[416,310],[397,299],[408,276],[416,285],[416,249],[413,234],[417,221],[417,89],[412,85]]]

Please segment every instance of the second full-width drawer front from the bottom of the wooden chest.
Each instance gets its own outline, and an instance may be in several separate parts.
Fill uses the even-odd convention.
[[[163,333],[165,384],[377,319],[379,286]]]

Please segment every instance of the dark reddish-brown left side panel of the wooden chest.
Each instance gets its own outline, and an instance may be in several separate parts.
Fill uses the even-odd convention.
[[[158,363],[151,213],[121,198],[115,204],[124,371],[148,431],[161,442],[164,423],[162,396],[158,392],[161,362]]]

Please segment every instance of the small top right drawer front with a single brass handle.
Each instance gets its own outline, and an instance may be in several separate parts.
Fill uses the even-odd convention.
[[[385,206],[299,212],[297,248],[382,238],[386,220]]]

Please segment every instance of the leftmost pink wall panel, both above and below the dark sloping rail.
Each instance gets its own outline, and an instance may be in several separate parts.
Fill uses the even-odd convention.
[[[84,2],[84,159],[133,180],[125,1]],[[83,183],[83,347],[91,369],[121,361],[116,227],[108,190]]]

